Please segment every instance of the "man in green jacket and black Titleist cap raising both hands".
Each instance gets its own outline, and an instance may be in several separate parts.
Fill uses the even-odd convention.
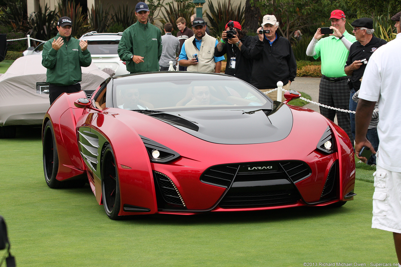
[[[64,92],[80,91],[81,66],[88,67],[92,62],[88,42],[71,36],[71,23],[71,18],[61,17],[57,22],[59,33],[43,46],[42,65],[47,68],[50,104]]]

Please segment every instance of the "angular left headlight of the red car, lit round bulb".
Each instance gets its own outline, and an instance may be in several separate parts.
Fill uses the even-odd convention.
[[[174,150],[169,149],[168,147],[165,147],[164,145],[142,135],[140,135],[140,137],[142,142],[144,142],[146,150],[148,151],[150,161],[155,163],[165,163],[180,157],[180,154]]]

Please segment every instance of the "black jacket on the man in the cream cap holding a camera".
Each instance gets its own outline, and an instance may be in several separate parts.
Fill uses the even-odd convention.
[[[297,62],[291,44],[278,34],[271,46],[266,38],[261,42],[259,36],[255,36],[249,54],[253,59],[252,85],[258,89],[276,88],[278,81],[286,85],[297,75]]]

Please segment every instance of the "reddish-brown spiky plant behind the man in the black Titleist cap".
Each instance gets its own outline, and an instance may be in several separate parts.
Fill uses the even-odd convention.
[[[80,38],[82,34],[88,32],[90,29],[88,19],[83,14],[80,4],[69,1],[59,3],[59,16],[71,18],[75,38]]]

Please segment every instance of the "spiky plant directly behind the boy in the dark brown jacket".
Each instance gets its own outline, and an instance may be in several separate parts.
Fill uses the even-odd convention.
[[[186,26],[188,26],[191,21],[191,16],[195,12],[194,10],[195,5],[192,2],[177,2],[177,6],[174,6],[173,3],[168,3],[168,8],[166,6],[164,7],[164,11],[166,13],[161,11],[163,17],[160,19],[160,22],[163,25],[167,22],[170,22],[173,25],[172,34],[176,35],[176,33],[178,32],[176,24],[177,18],[185,18]]]

